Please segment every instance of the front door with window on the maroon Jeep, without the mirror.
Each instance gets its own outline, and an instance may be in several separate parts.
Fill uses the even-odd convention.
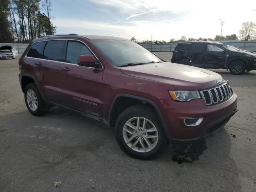
[[[66,40],[65,62],[60,64],[60,102],[68,108],[101,117],[104,66],[102,69],[79,66],[78,57],[88,54],[94,55],[84,42]]]

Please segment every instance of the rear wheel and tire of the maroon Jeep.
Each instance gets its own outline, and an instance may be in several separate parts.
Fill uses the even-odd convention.
[[[44,115],[49,109],[43,101],[35,83],[26,86],[24,90],[24,99],[28,111],[34,116]]]

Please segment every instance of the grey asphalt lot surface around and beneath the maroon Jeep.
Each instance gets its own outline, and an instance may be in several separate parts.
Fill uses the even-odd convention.
[[[143,161],[122,152],[100,122],[58,107],[32,116],[18,70],[18,58],[0,60],[0,192],[256,191],[256,71],[213,70],[238,95],[238,112],[201,142]]]

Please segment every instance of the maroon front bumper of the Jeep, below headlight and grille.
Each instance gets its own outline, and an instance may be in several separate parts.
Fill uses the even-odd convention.
[[[228,100],[206,106],[204,100],[175,102],[161,100],[163,118],[170,133],[171,142],[192,142],[200,140],[223,128],[237,110],[237,96],[233,94]],[[184,119],[204,118],[197,126],[186,126]]]

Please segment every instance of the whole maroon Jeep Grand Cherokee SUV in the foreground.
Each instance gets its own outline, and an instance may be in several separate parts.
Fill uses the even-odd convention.
[[[60,106],[102,121],[115,127],[119,146],[135,158],[154,158],[168,141],[204,138],[237,111],[236,94],[219,74],[164,62],[121,38],[38,38],[19,66],[31,114]]]

